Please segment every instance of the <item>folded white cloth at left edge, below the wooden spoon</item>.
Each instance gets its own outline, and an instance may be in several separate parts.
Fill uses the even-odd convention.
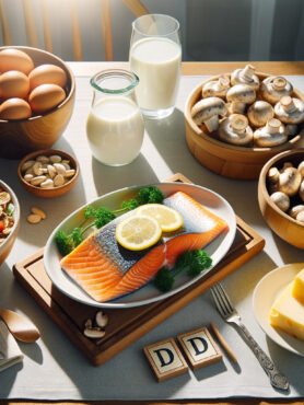
[[[0,320],[0,372],[23,360],[14,337],[8,326]]]

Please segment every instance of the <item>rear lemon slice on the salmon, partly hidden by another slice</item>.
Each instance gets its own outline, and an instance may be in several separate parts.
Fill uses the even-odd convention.
[[[183,227],[184,220],[179,212],[175,209],[163,206],[161,204],[145,204],[137,209],[141,216],[154,218],[163,232],[173,232]]]

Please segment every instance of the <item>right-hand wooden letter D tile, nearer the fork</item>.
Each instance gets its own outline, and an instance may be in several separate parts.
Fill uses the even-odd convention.
[[[220,361],[222,354],[207,327],[177,336],[192,369]]]

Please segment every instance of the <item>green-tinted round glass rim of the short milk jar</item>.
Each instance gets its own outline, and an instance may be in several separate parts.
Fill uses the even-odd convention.
[[[101,86],[97,81],[103,78],[103,79],[107,79],[107,78],[110,78],[110,77],[124,77],[125,79],[129,79],[130,80],[130,84],[125,86],[125,88],[120,88],[120,89],[107,89],[107,88],[104,88],[104,86]],[[90,83],[91,85],[96,89],[96,90],[100,90],[102,91],[103,93],[106,93],[106,94],[121,94],[121,93],[127,93],[131,90],[133,90],[138,83],[139,83],[139,77],[130,71],[130,70],[126,70],[126,69],[105,69],[105,70],[101,70],[98,71],[97,73],[95,73],[91,79],[90,79]]]

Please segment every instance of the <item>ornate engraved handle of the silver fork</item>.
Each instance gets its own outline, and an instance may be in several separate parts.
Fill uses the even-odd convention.
[[[265,372],[270,379],[271,385],[279,390],[289,390],[289,382],[285,375],[283,375],[274,366],[273,361],[266,355],[266,352],[261,349],[261,347],[256,343],[253,338],[250,332],[247,327],[242,323],[237,322],[236,325],[239,328],[241,335],[243,336],[246,344],[255,354],[256,358],[258,359],[260,366],[264,368]]]

